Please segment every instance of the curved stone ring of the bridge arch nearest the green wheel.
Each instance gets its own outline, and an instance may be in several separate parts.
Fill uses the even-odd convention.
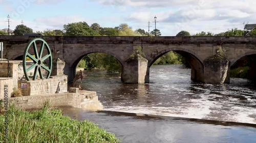
[[[71,63],[70,65],[71,65],[72,67],[77,66],[77,64],[79,63],[79,61],[80,61],[85,55],[90,54],[90,53],[94,53],[94,52],[102,52],[102,53],[110,54],[110,55],[114,56],[114,57],[120,62],[120,64],[123,66],[123,60],[121,59],[120,56],[118,56],[117,54],[115,54],[115,53],[113,53],[113,52],[111,52],[111,51],[108,51],[108,50],[101,50],[101,49],[90,49],[90,50],[86,50],[86,51],[81,52],[79,55],[76,55],[76,57],[78,57],[78,58],[76,58],[76,59],[74,60],[74,62]]]

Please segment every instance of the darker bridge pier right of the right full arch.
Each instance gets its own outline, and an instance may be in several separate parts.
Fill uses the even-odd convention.
[[[214,55],[204,60],[203,82],[229,83],[229,61],[220,55]]]

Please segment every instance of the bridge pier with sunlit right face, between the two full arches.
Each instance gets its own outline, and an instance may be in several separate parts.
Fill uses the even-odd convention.
[[[136,54],[133,58],[124,61],[121,80],[124,83],[146,83],[149,81],[147,74],[147,60]]]

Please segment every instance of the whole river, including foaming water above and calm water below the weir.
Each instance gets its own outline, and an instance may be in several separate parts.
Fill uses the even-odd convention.
[[[182,65],[150,70],[147,84],[87,71],[81,87],[97,92],[103,111],[62,107],[64,115],[97,123],[122,142],[256,142],[255,83],[197,83]]]

